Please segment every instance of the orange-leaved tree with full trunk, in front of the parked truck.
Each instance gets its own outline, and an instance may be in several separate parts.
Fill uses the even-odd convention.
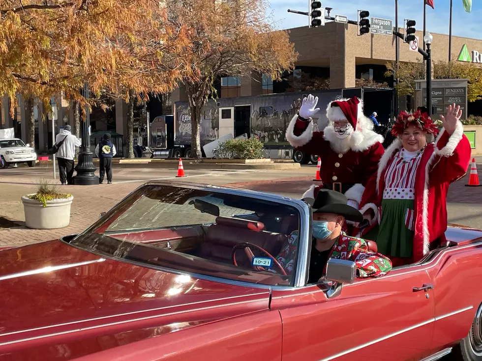
[[[201,157],[201,111],[215,97],[215,79],[266,73],[279,80],[297,59],[286,31],[273,31],[267,0],[165,0],[174,31],[185,28],[189,47],[181,76],[191,112],[191,149]]]

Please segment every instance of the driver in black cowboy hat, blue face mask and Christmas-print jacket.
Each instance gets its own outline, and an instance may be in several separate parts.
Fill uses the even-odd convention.
[[[320,189],[313,198],[303,198],[313,208],[313,243],[309,263],[308,283],[316,283],[325,274],[330,258],[356,263],[357,277],[379,277],[392,270],[392,262],[379,253],[370,252],[366,242],[342,232],[345,221],[361,222],[360,212],[347,205],[345,195]],[[288,244],[276,257],[287,273],[294,271],[298,231],[291,233]]]

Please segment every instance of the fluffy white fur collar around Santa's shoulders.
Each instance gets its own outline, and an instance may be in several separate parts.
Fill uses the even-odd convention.
[[[333,125],[327,125],[323,130],[323,138],[330,142],[331,149],[342,154],[345,154],[349,150],[364,152],[372,145],[383,142],[383,136],[369,129],[357,130],[345,139],[339,139],[335,133]]]

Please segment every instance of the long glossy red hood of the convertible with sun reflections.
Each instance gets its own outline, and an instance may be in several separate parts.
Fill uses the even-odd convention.
[[[105,259],[61,241],[0,251],[0,289],[0,355],[38,347],[48,355],[45,347],[79,340],[98,347],[98,337],[115,347],[268,309],[269,300],[269,290]]]

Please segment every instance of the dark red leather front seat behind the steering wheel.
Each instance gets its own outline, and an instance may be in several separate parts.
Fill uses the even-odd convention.
[[[206,242],[201,245],[198,256],[213,261],[231,263],[233,247],[242,242],[249,242],[260,246],[276,257],[287,237],[280,233],[253,230],[253,224],[257,226],[257,229],[261,225],[264,228],[264,224],[261,222],[218,217],[216,223],[208,228]],[[236,260],[242,266],[251,263],[245,252],[237,252]]]

